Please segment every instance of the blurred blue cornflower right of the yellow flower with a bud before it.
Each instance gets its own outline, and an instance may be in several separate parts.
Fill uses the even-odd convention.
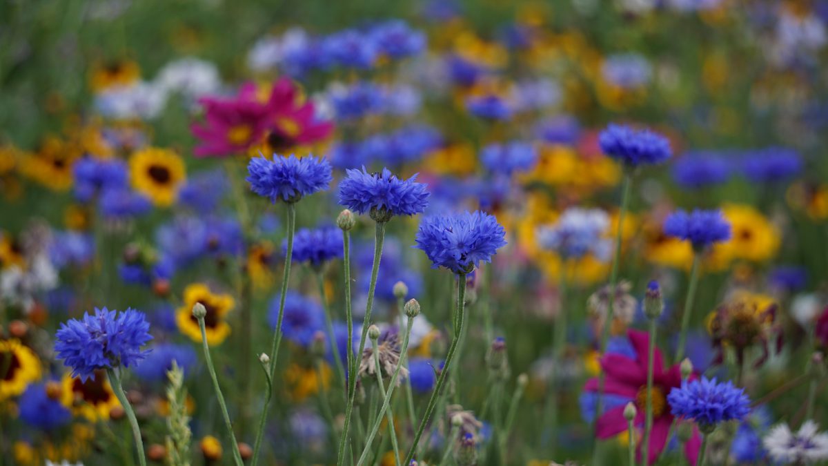
[[[279,321],[280,297],[279,294],[273,297],[267,313],[267,321],[272,328],[276,328]],[[325,332],[325,313],[320,304],[295,291],[288,291],[282,318],[284,336],[301,347],[308,347],[316,332]]]

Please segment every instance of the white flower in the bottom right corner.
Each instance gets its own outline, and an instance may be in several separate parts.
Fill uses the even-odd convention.
[[[806,420],[797,433],[780,424],[765,435],[763,444],[772,459],[784,464],[811,464],[828,459],[828,434],[818,433],[819,426]]]

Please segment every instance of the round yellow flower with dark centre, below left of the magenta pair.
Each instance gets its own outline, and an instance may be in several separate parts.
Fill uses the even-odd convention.
[[[184,162],[170,149],[146,148],[129,158],[132,187],[156,206],[170,206],[186,179]]]

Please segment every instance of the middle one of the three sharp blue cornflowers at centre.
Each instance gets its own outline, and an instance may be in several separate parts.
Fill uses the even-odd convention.
[[[402,180],[388,168],[368,173],[365,167],[346,173],[339,183],[339,204],[359,214],[370,212],[375,221],[419,214],[428,205],[426,185],[416,182],[416,175]]]

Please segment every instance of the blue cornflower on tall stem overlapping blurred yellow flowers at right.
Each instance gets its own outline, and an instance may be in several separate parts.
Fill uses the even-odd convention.
[[[700,250],[730,239],[730,224],[721,211],[675,211],[664,220],[664,234],[690,241]]]

